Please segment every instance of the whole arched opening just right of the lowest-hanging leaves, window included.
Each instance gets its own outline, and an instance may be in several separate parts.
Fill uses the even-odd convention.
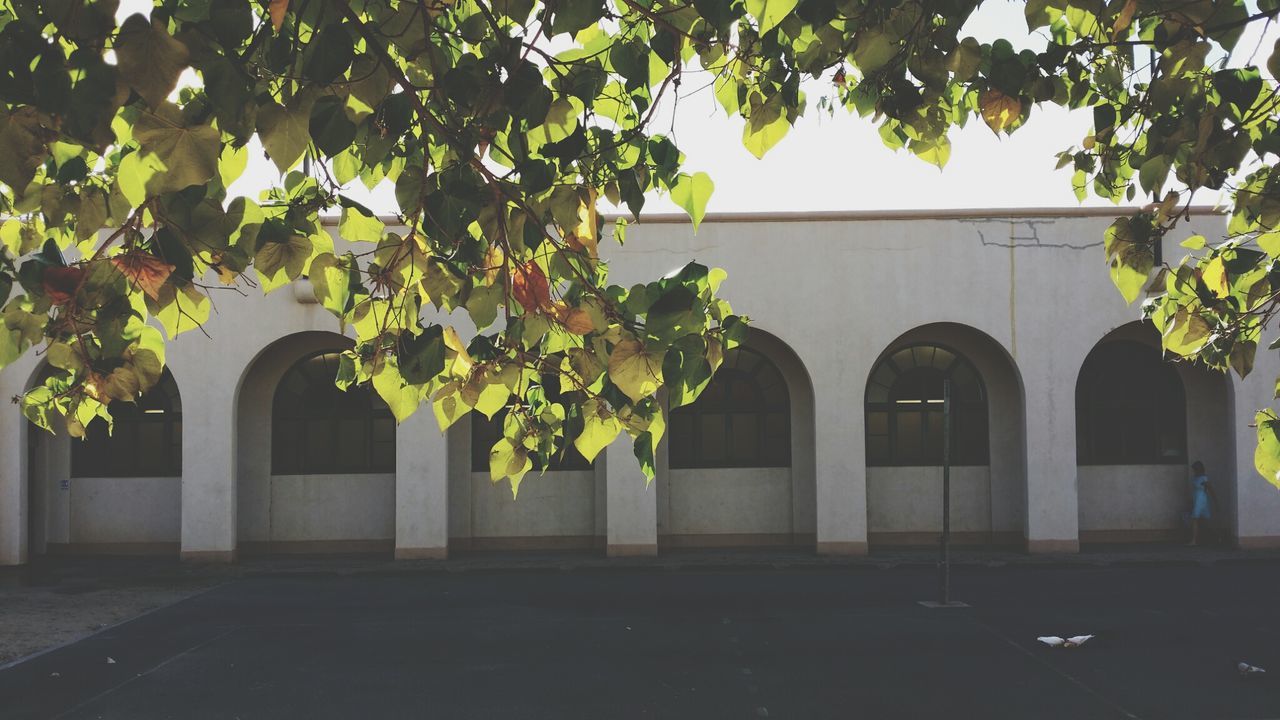
[[[659,544],[812,546],[813,442],[804,364],[753,328],[699,398],[668,415],[658,457]]]

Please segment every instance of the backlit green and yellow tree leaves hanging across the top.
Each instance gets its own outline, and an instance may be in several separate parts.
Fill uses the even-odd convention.
[[[339,384],[372,383],[399,419],[430,404],[442,427],[512,407],[495,479],[623,432],[652,474],[657,391],[690,402],[746,332],[718,269],[627,288],[599,259],[626,231],[602,199],[639,217],[666,192],[703,217],[712,178],[652,123],[689,77],[758,156],[814,104],[940,167],[970,119],[1010,133],[1041,105],[1091,113],[1059,155],[1076,192],[1149,202],[1106,232],[1115,284],[1147,296],[1171,354],[1248,373],[1280,307],[1280,44],[1262,67],[1230,58],[1280,1],[1030,0],[1029,33],[995,42],[963,36],[979,5],[156,0],[118,23],[116,0],[3,0],[0,368],[44,352],[56,372],[23,410],[82,434],[157,382],[166,337],[219,286],[306,275],[356,334]],[[232,196],[255,137],[283,179]],[[390,228],[344,193],[356,181],[393,183]],[[1228,233],[1166,263],[1160,241],[1221,190]],[[1280,484],[1280,418],[1258,420],[1258,470]]]

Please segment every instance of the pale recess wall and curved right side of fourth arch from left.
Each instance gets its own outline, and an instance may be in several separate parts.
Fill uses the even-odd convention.
[[[663,547],[809,546],[817,530],[813,382],[781,337],[753,327],[746,347],[768,359],[787,384],[790,468],[676,469],[668,443],[657,468],[658,539]]]

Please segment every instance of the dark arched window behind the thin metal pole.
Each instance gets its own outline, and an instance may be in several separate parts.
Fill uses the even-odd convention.
[[[987,392],[964,356],[913,345],[876,365],[867,383],[867,464],[942,464],[942,380],[951,380],[951,464],[986,465]]]

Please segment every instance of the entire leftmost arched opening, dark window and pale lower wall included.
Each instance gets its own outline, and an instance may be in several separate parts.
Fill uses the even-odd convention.
[[[42,382],[44,374],[37,375]],[[137,402],[111,402],[83,439],[27,428],[31,555],[177,555],[182,397],[166,368]]]

